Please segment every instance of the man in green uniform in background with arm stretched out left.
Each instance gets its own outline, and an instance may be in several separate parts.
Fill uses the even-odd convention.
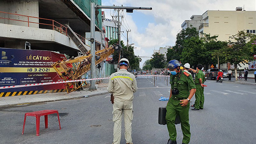
[[[199,110],[204,108],[204,81],[205,81],[205,76],[204,73],[202,73],[201,69],[203,68],[202,64],[197,64],[195,69],[191,69],[193,72],[196,73],[195,75],[195,87],[196,87],[196,92],[195,92],[195,108],[192,110]]]

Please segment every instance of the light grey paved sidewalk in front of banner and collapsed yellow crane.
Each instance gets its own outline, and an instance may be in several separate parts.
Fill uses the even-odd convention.
[[[0,97],[0,108],[10,106],[21,106],[28,105],[31,103],[38,102],[52,102],[57,100],[68,100],[73,98],[83,98],[95,95],[107,94],[107,83],[99,83],[97,90],[89,91],[85,88],[84,91],[73,91],[71,93],[60,92],[60,93],[45,93],[36,95],[20,95],[13,97]],[[96,85],[97,86],[97,85]]]

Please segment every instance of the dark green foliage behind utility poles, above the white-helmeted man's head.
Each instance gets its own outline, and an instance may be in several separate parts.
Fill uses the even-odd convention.
[[[109,46],[111,44],[118,44],[118,39],[112,39],[111,41],[109,41]],[[130,62],[130,69],[136,69],[139,70],[140,69],[140,62],[142,61],[141,58],[139,58],[138,56],[135,56],[134,54],[134,47],[133,46],[128,46],[128,51],[127,51],[127,47],[124,45],[124,42],[121,41],[121,46],[123,47],[120,51],[121,53],[121,58],[123,56],[123,58],[126,58],[129,60]],[[115,51],[113,54],[113,61],[112,63],[118,63],[119,60],[119,52]]]

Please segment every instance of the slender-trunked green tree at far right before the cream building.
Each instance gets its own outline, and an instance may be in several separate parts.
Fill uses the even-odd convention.
[[[240,63],[245,64],[253,60],[253,53],[256,51],[256,47],[251,43],[256,36],[241,30],[229,38],[229,45],[216,51],[213,55],[220,55],[225,58],[225,61],[234,64],[235,79],[237,80],[237,66],[240,66]]]

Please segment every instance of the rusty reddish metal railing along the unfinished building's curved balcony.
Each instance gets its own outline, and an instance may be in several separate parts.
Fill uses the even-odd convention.
[[[28,23],[28,27],[31,26],[31,24],[45,25],[46,27],[44,29],[56,30],[57,32],[60,32],[61,34],[64,34],[64,35],[67,36],[67,27],[65,27],[64,25],[60,24],[59,22],[56,22],[55,20],[44,19],[44,18],[39,18],[39,17],[32,17],[32,16],[28,16],[28,15],[13,14],[13,13],[9,13],[9,12],[1,12],[0,11],[0,14],[1,13],[2,14],[9,14],[9,15],[17,15],[17,18],[19,18],[18,16],[26,17],[26,20],[10,19],[10,18],[1,17],[1,16],[0,16],[0,19],[14,20],[14,21],[19,21],[19,22],[26,22],[26,23]],[[33,21],[31,21],[31,19],[38,19],[38,22],[33,22]],[[39,22],[39,20],[45,21],[45,22],[44,23],[43,22]]]

